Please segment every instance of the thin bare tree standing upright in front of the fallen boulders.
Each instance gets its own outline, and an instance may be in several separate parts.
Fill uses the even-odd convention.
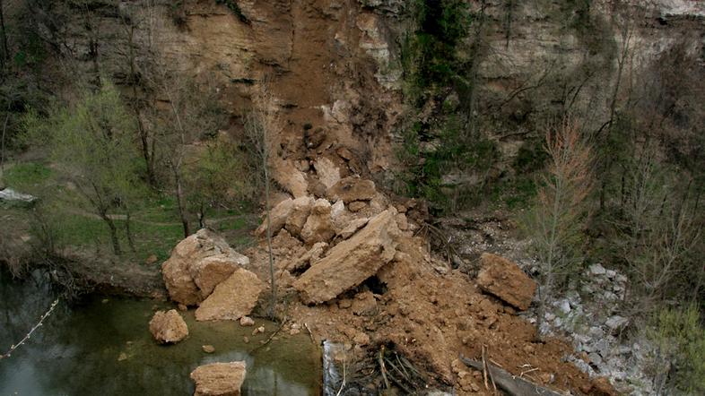
[[[274,254],[272,253],[272,220],[270,211],[270,154],[273,151],[273,134],[281,128],[281,122],[277,114],[274,95],[269,90],[268,83],[262,82],[257,94],[255,108],[250,111],[246,120],[245,131],[248,141],[255,152],[261,167],[261,175],[265,185],[265,218],[266,218],[266,240],[269,255],[269,276],[272,287],[272,302],[269,307],[270,316],[274,317],[276,307],[276,283],[274,280]]]

